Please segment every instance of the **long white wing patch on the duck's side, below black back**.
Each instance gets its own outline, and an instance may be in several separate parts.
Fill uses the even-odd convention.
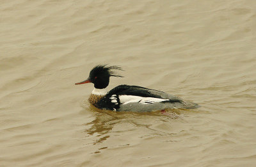
[[[119,100],[121,104],[128,104],[130,102],[139,102],[142,104],[153,104],[155,102],[164,102],[169,99],[160,99],[154,97],[140,97],[140,96],[132,96],[132,95],[120,95]]]

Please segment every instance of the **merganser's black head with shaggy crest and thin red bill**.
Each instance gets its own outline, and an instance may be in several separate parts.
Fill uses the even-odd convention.
[[[92,68],[86,80],[76,84],[93,83],[94,88],[104,89],[109,84],[109,77],[123,77],[113,72],[113,70],[122,70],[122,68],[118,66],[97,65]]]

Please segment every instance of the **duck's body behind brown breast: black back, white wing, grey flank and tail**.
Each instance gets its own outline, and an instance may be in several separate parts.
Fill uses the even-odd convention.
[[[105,106],[104,109],[116,111],[153,111],[165,108],[196,107],[194,103],[185,102],[163,91],[126,84],[116,86],[109,91],[101,103]]]

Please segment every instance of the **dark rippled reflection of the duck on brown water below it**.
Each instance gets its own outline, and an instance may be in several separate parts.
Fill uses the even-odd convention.
[[[90,111],[94,113],[94,120],[92,122],[86,123],[90,128],[86,129],[85,132],[90,135],[97,134],[97,139],[93,144],[102,143],[106,141],[111,135],[112,129],[121,123],[130,123],[136,130],[136,127],[148,128],[152,125],[150,120],[159,120],[163,122],[171,122],[173,119],[182,118],[179,114],[179,110],[166,110],[166,111],[155,111],[149,113],[134,113],[134,112],[115,112],[97,109],[96,107],[90,105]],[[147,120],[147,121],[145,121]],[[131,128],[124,127],[124,131],[134,131]],[[150,129],[152,131],[152,129]],[[119,131],[118,131],[119,132]]]

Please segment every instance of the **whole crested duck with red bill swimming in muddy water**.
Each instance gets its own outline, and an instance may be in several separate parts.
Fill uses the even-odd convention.
[[[99,108],[113,111],[157,111],[172,108],[195,109],[198,104],[186,102],[179,97],[163,91],[122,84],[106,91],[109,77],[123,77],[113,70],[122,70],[118,66],[97,65],[88,79],[76,84],[93,83],[94,89],[89,102]]]

